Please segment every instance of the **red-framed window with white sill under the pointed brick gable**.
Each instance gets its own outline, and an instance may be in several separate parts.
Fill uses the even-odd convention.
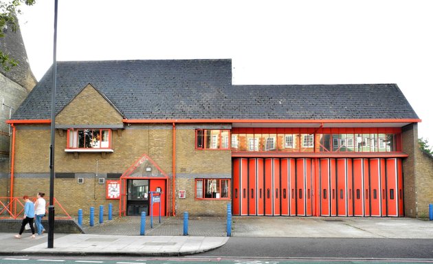
[[[68,129],[67,148],[110,148],[111,129]]]

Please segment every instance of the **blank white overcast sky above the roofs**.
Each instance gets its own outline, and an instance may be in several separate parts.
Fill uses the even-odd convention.
[[[32,72],[54,0],[23,7]],[[231,58],[234,85],[396,83],[433,144],[433,1],[58,0],[58,61]]]

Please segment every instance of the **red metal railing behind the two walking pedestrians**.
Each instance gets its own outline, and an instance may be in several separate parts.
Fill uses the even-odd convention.
[[[36,197],[30,197],[30,201],[36,201]],[[49,201],[49,198],[47,198]],[[22,197],[0,197],[0,219],[20,219],[24,214],[24,200]],[[66,212],[65,208],[54,198],[54,207],[59,207],[60,211],[54,215],[55,219],[72,219]],[[48,214],[47,208],[49,203],[45,206],[45,214]]]

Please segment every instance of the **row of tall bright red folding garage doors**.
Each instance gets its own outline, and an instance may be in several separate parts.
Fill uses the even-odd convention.
[[[233,214],[403,216],[401,166],[397,158],[235,158]]]

